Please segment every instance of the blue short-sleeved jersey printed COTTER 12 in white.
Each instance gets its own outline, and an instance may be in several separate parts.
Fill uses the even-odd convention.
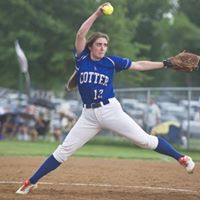
[[[114,73],[128,69],[132,62],[119,56],[105,56],[95,61],[90,58],[90,51],[87,49],[75,60],[78,89],[84,104],[114,97]]]

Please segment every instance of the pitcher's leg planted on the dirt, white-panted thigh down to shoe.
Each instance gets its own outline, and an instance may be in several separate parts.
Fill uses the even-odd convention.
[[[83,112],[77,123],[65,138],[64,142],[57,147],[54,153],[45,160],[33,176],[26,181],[16,193],[27,194],[30,191],[29,185],[34,186],[39,179],[55,170],[77,149],[94,137],[100,129],[97,120],[90,116],[90,113],[87,112],[87,114],[85,114],[85,112]],[[24,185],[27,185],[27,187],[24,187]]]

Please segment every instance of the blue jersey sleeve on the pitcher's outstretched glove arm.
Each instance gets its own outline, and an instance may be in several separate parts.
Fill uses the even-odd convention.
[[[127,70],[132,63],[132,61],[129,58],[123,58],[119,56],[110,56],[110,58],[114,61],[116,72]]]

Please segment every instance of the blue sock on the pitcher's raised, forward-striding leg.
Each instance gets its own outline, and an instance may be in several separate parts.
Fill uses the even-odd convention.
[[[158,146],[156,147],[155,151],[171,156],[176,160],[183,156],[178,151],[176,151],[176,149],[172,145],[170,145],[166,140],[161,137],[158,137]]]

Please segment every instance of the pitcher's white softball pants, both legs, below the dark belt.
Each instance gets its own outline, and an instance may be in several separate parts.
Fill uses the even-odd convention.
[[[116,98],[99,108],[83,108],[82,114],[53,156],[64,162],[77,149],[92,139],[101,129],[109,129],[130,139],[134,144],[147,149],[156,149],[158,138],[147,134],[123,110]]]

